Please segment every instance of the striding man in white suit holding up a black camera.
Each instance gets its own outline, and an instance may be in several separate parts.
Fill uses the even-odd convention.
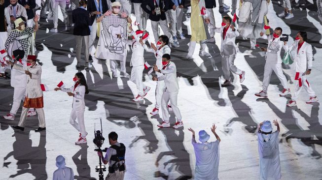
[[[281,58],[281,49],[284,47],[283,41],[280,40],[282,34],[282,28],[275,28],[273,35],[267,36],[268,47],[260,48],[261,51],[266,52],[265,56],[265,66],[264,66],[264,78],[263,78],[263,90],[258,93],[255,93],[255,96],[258,97],[267,97],[267,88],[271,80],[272,72],[274,71],[279,80],[281,81],[284,89],[280,93],[280,96],[285,96],[290,94],[290,90],[287,85],[287,80],[283,74],[282,69],[282,58]],[[264,33],[260,32],[260,36],[263,36]],[[285,48],[284,48],[285,49]]]

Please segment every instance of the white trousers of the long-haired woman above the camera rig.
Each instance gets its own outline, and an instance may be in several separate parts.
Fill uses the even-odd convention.
[[[72,109],[70,123],[79,133],[81,133],[81,137],[85,139],[87,132],[85,131],[84,112],[85,110]]]

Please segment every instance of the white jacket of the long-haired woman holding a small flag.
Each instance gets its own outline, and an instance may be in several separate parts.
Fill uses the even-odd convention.
[[[63,88],[62,91],[64,92],[72,92],[74,93],[73,101],[72,101],[72,109],[75,110],[85,110],[85,86],[78,85],[74,90],[74,85],[71,88]]]

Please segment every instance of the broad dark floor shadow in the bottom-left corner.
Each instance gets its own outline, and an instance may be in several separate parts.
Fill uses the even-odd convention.
[[[13,156],[17,160],[17,173],[10,175],[9,178],[15,178],[22,174],[29,173],[35,177],[35,180],[46,180],[46,131],[40,132],[39,145],[32,146],[30,131],[15,131],[12,137],[16,138],[13,143],[13,151],[9,152],[3,159],[7,160]],[[5,162],[3,166],[8,166],[11,162]]]

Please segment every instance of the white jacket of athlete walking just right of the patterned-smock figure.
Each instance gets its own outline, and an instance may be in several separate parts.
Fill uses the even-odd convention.
[[[132,57],[130,66],[140,66],[144,65],[144,48],[142,44],[139,42],[140,38],[137,36],[137,33],[135,31],[132,31],[132,35],[135,38],[135,40],[130,41],[131,49],[132,49]]]

